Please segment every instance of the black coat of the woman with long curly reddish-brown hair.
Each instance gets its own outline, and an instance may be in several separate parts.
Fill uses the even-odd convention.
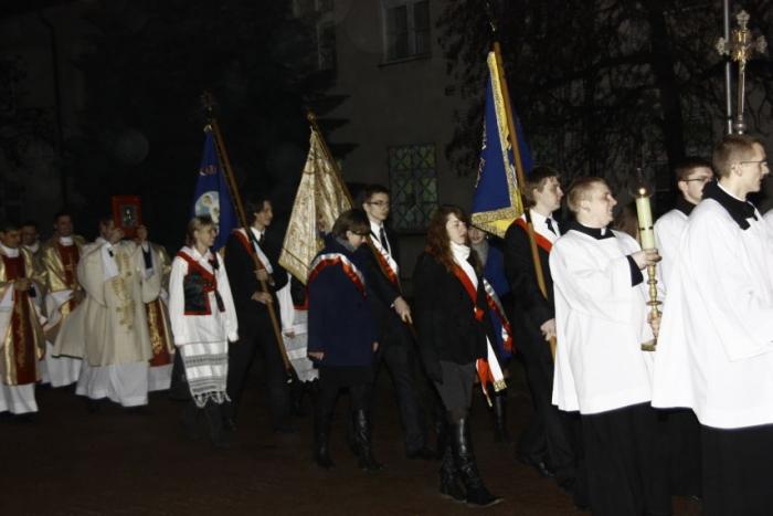
[[[486,357],[486,336],[494,343],[494,330],[479,274],[474,305],[456,275],[424,252],[416,262],[413,285],[419,348],[432,379],[442,378],[440,360],[469,364]],[[475,306],[484,310],[483,320],[475,318]]]

